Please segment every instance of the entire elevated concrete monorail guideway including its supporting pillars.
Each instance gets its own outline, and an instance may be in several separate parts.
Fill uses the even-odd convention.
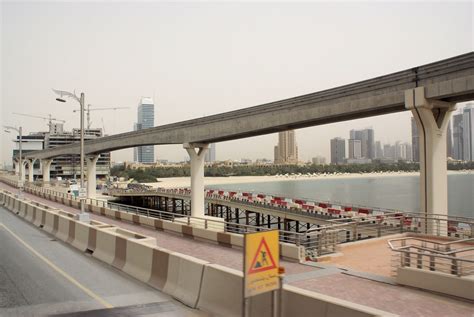
[[[95,162],[98,155],[125,148],[183,144],[191,157],[191,214],[204,216],[204,157],[209,143],[248,138],[331,122],[411,111],[420,142],[420,211],[448,213],[446,129],[456,102],[474,99],[474,52],[404,71],[307,95],[199,119],[101,137],[85,142],[88,158],[88,198],[95,196]],[[29,152],[29,160],[48,161],[80,153],[78,143]],[[43,163],[43,162],[42,162]],[[46,176],[46,177],[45,177]],[[435,227],[426,220],[423,232]],[[445,228],[447,230],[447,227]]]

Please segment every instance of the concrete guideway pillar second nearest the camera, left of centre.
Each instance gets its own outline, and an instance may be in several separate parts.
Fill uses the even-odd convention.
[[[191,158],[191,216],[204,217],[204,158],[209,144],[185,143],[183,148]]]

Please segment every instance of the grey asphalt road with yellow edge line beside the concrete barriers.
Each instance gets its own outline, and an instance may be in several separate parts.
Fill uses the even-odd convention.
[[[202,315],[0,207],[0,316]]]

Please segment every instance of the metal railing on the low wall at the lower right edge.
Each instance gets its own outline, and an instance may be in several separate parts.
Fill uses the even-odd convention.
[[[437,242],[407,237],[391,239],[388,245],[394,251],[391,259],[394,276],[400,267],[459,277],[474,275],[474,239]]]

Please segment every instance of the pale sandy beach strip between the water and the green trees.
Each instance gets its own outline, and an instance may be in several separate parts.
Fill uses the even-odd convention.
[[[448,171],[450,174],[474,174],[474,171]],[[310,181],[324,179],[351,179],[351,178],[382,178],[382,177],[401,177],[401,176],[419,176],[420,172],[383,172],[383,173],[354,173],[354,174],[329,174],[329,175],[289,175],[289,176],[229,176],[229,177],[205,177],[205,186],[243,184],[243,183],[263,183],[263,182],[289,182],[289,181]],[[190,177],[169,177],[160,178],[158,182],[143,183],[153,188],[182,188],[191,187]]]

